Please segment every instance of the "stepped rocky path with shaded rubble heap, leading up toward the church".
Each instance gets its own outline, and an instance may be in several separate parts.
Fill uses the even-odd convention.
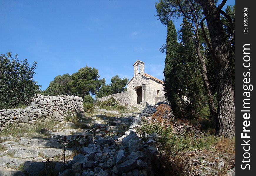
[[[144,162],[145,153],[139,153],[144,161],[136,158],[138,151],[143,148],[142,140],[140,139],[139,145],[133,146],[129,146],[129,143],[122,145],[120,142],[142,123],[140,113],[138,111],[120,114],[117,111],[107,111],[106,115],[104,109],[96,109],[92,116],[80,119],[81,123],[89,127],[88,129],[59,128],[72,126],[72,123],[68,122],[56,125],[56,129],[43,129],[47,135],[45,138],[1,137],[0,175],[47,175],[48,172],[48,175],[103,176],[109,175],[112,170],[115,170],[116,174],[124,170],[133,172],[131,170],[137,165],[146,168],[148,164]],[[131,134],[133,140],[139,140],[135,133]],[[73,141],[73,146],[65,146],[64,164],[64,142],[70,141]],[[125,150],[129,147],[130,151],[137,152],[133,154],[134,157],[130,156],[130,159],[126,157],[130,152],[127,153]],[[113,167],[115,169],[112,169]],[[135,175],[139,175],[138,169],[134,172]]]

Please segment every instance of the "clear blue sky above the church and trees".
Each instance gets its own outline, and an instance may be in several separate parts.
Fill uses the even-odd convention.
[[[98,69],[107,84],[115,75],[130,80],[136,60],[163,79],[165,54],[159,48],[167,28],[154,16],[156,2],[0,0],[0,54],[11,51],[19,60],[36,61],[34,80],[42,90],[57,75],[86,65]]]

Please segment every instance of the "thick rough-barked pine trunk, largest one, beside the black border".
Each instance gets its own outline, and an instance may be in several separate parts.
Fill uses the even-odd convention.
[[[225,32],[220,21],[219,9],[214,0],[196,0],[201,4],[211,38],[215,58],[215,78],[217,86],[217,128],[218,136],[235,136],[235,97],[232,87],[231,70],[228,62],[228,50]]]

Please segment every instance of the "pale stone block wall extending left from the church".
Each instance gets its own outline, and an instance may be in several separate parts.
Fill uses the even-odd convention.
[[[108,95],[106,97],[98,98],[97,101],[107,101],[109,98],[113,97],[119,102],[119,105],[129,106],[131,105],[131,92],[124,91],[121,93]]]

